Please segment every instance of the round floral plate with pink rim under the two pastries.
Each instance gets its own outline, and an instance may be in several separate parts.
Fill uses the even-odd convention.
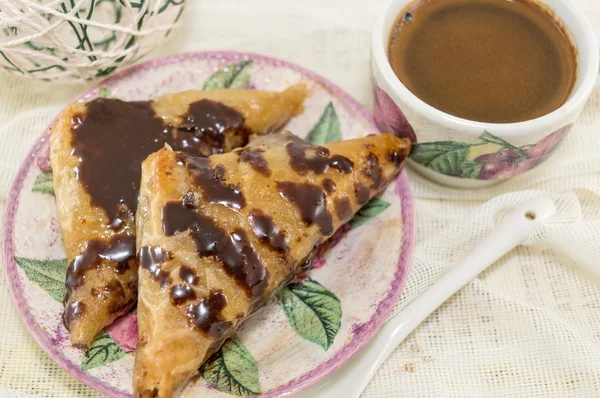
[[[146,62],[83,95],[145,100],[189,89],[278,91],[311,87],[305,112],[287,129],[321,144],[377,131],[339,88],[298,66],[259,55],[191,53]],[[67,262],[56,218],[46,129],[12,187],[4,221],[4,267],[15,306],[41,347],[77,379],[131,397],[135,314],[106,328],[83,351],[61,321]],[[406,173],[323,245],[315,269],[284,288],[200,369],[185,397],[284,396],[323,379],[373,336],[394,306],[413,249],[414,210]]]

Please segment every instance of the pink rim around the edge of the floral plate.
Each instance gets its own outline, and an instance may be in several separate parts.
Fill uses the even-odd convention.
[[[373,117],[369,112],[356,100],[354,100],[348,93],[337,87],[329,80],[311,72],[301,66],[283,61],[277,58],[272,58],[264,55],[235,52],[235,51],[206,51],[206,52],[189,52],[175,55],[169,55],[161,58],[149,60],[138,65],[132,66],[121,72],[115,73],[111,77],[103,80],[100,83],[95,84],[83,94],[79,95],[73,102],[80,101],[85,97],[89,96],[93,92],[99,89],[101,86],[110,85],[111,83],[118,82],[122,79],[126,79],[132,74],[135,74],[141,70],[155,68],[162,65],[179,63],[189,59],[221,59],[224,61],[236,61],[242,59],[253,59],[264,64],[272,66],[282,66],[292,69],[298,73],[301,73],[309,78],[318,81],[327,90],[329,90],[334,96],[341,98],[352,110],[360,114],[363,118],[369,121],[373,127],[373,131],[378,131],[378,128],[373,120]],[[53,121],[54,122],[54,121]],[[52,122],[52,123],[53,123]],[[67,359],[62,352],[56,349],[49,337],[40,328],[39,324],[33,318],[29,308],[24,305],[20,305],[25,301],[23,286],[20,283],[20,278],[12,277],[17,273],[17,264],[14,261],[14,242],[13,233],[15,230],[15,216],[19,206],[19,196],[23,187],[24,179],[29,171],[30,167],[34,162],[33,159],[38,156],[41,147],[50,136],[50,126],[46,127],[40,138],[36,141],[32,149],[29,151],[23,164],[19,168],[19,171],[15,177],[13,185],[10,189],[8,201],[6,205],[6,212],[4,217],[3,225],[3,255],[4,255],[4,272],[6,274],[8,288],[15,304],[17,313],[23,319],[26,329],[33,336],[34,340],[42,347],[42,349],[52,358],[58,365],[65,369],[68,373],[74,376],[77,380],[87,384],[89,387],[106,394],[110,397],[115,398],[131,398],[132,395],[125,393],[113,386],[106,384],[102,379],[99,379],[88,372],[81,370],[81,368]],[[394,304],[398,300],[400,292],[406,282],[408,271],[410,269],[410,262],[413,255],[414,244],[415,244],[415,211],[412,194],[410,191],[410,185],[408,181],[408,175],[406,170],[402,170],[398,179],[396,180],[396,193],[399,195],[402,203],[402,222],[403,222],[403,234],[402,234],[402,247],[400,251],[400,258],[398,259],[396,273],[392,281],[390,290],[386,293],[385,297],[379,302],[375,313],[371,316],[368,322],[362,324],[360,327],[353,330],[353,338],[342,347],[332,358],[327,362],[315,367],[304,375],[288,382],[287,384],[280,386],[274,390],[267,392],[262,395],[263,397],[283,397],[293,393],[297,393],[300,390],[308,388],[309,386],[323,380],[336,369],[342,366],[345,362],[350,360],[356,353],[358,353],[371,339],[371,337],[379,330],[383,323],[387,319],[388,315],[392,311]]]

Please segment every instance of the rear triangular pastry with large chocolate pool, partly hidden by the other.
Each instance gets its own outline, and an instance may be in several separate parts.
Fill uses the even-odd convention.
[[[98,98],[69,106],[52,127],[51,164],[69,268],[64,321],[86,346],[135,304],[135,219],[142,161],[165,144],[224,153],[281,128],[306,87],[281,93],[214,90],[154,101]]]

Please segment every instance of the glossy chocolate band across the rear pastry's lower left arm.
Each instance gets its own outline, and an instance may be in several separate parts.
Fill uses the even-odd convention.
[[[71,261],[67,268],[67,300],[73,290],[81,286],[87,270],[99,267],[102,261],[114,263],[115,272],[124,273],[130,268],[129,261],[135,259],[135,237],[115,235],[109,241],[93,239],[87,242],[83,253]]]

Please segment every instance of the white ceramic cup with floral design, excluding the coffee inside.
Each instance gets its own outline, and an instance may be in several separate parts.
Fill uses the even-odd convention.
[[[375,120],[382,131],[417,142],[408,164],[433,181],[477,188],[519,175],[545,161],[571,129],[598,80],[600,47],[583,10],[572,0],[536,0],[562,20],[577,48],[577,80],[567,101],[537,119],[485,123],[452,116],[426,104],[392,70],[387,57],[390,30],[398,14],[413,1],[385,2],[375,17],[371,38]]]

